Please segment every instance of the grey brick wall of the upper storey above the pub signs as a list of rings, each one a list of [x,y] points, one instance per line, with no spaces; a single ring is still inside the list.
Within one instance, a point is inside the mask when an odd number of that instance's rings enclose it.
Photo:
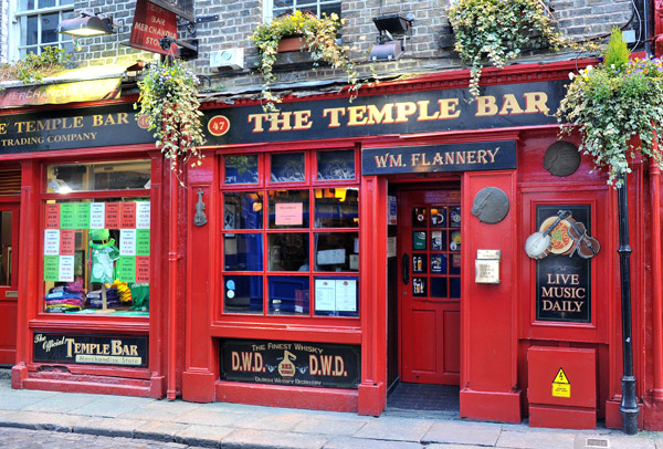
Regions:
[[[0,9],[0,32],[2,44],[0,56],[7,54],[7,30],[11,20],[7,17],[7,3],[2,0]],[[369,76],[427,73],[464,67],[455,53],[442,50],[439,45],[440,31],[448,23],[446,7],[449,0],[400,1],[382,0],[347,0],[343,2],[343,17],[346,24],[343,29],[343,42],[351,46],[351,59],[360,73]],[[124,27],[119,34],[81,39],[81,52],[74,54],[78,65],[105,65],[133,60],[151,60],[147,52],[122,44],[128,42],[135,0],[78,0],[76,11],[93,10],[114,14]],[[588,35],[601,35],[610,32],[613,25],[625,24],[632,15],[630,0],[554,0],[550,2],[554,17],[560,29],[572,39]],[[228,92],[246,92],[260,90],[261,79],[253,73],[257,52],[249,40],[252,30],[262,21],[263,0],[197,0],[196,17],[218,14],[219,21],[199,23],[196,39],[200,41],[199,59],[191,62],[196,72],[208,75],[215,90]],[[368,63],[368,54],[378,34],[372,18],[382,14],[411,12],[414,15],[412,35],[407,41],[404,56],[398,62]],[[192,38],[188,32],[180,32],[180,39]],[[118,44],[119,42],[119,44]],[[245,70],[217,70],[209,67],[210,52],[225,49],[243,48],[245,50]],[[532,61],[550,59],[547,52],[524,55]],[[559,58],[571,58],[559,56]],[[277,67],[280,82],[284,85],[297,86],[311,81],[339,81],[343,72],[319,67],[316,71],[303,70],[302,66]]]

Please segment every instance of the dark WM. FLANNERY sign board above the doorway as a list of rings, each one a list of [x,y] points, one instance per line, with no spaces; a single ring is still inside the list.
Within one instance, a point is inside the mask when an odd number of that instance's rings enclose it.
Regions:
[[[514,168],[516,168],[514,140],[366,148],[361,152],[362,175]]]

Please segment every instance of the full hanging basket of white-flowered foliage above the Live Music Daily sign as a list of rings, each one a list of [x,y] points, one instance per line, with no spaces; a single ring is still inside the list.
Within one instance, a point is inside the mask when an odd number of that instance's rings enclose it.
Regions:
[[[582,134],[579,150],[589,154],[596,167],[608,169],[609,185],[621,187],[631,171],[628,157],[636,153],[653,157],[663,168],[655,145],[655,128],[663,123],[663,62],[629,59],[621,31],[612,31],[602,63],[588,65],[572,80],[557,111],[562,133],[575,127]]]

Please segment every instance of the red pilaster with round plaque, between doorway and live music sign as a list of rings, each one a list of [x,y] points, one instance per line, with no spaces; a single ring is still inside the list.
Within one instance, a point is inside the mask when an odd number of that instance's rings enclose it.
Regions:
[[[520,274],[513,261],[525,254],[513,237],[518,234],[516,179],[515,171],[465,173],[463,177],[462,210],[471,210],[475,195],[488,186],[502,189],[509,199],[509,211],[498,223],[483,223],[471,213],[464,217],[464,229],[472,236],[463,242],[462,254],[461,417],[465,418],[520,421],[515,340],[518,296],[514,289]],[[501,250],[499,284],[475,283],[467,275],[474,273],[480,249]]]

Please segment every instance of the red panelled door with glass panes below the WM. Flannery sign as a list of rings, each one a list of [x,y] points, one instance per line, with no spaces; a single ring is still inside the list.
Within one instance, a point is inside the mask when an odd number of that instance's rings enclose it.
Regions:
[[[460,190],[399,194],[401,380],[460,384]]]

